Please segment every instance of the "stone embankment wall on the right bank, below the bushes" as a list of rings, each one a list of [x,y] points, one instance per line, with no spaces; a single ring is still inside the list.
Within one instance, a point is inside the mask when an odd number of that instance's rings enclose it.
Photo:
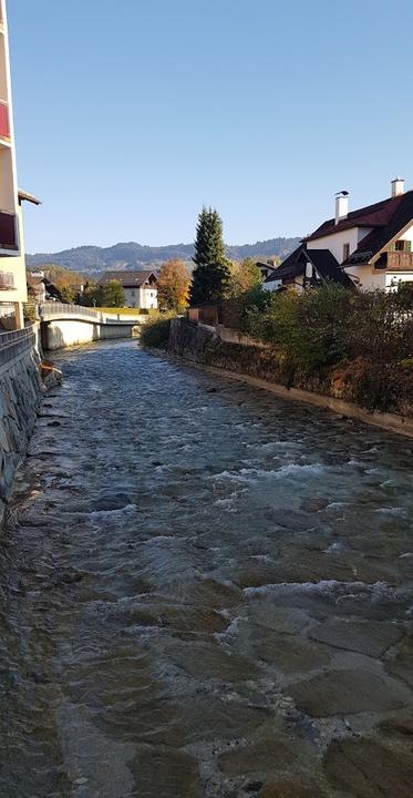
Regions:
[[[223,335],[219,327],[195,325],[185,318],[173,319],[168,352],[211,370],[225,370],[229,377],[270,390],[287,400],[317,405],[413,438],[413,418],[364,410],[345,398],[340,379],[296,377],[295,383],[288,385],[288,375],[281,372],[271,348],[244,338],[235,330],[226,330]]]

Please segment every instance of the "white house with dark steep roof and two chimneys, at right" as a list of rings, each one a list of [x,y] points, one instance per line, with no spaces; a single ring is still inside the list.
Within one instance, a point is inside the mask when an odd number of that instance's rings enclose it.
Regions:
[[[333,218],[323,222],[269,275],[265,287],[278,290],[334,280],[361,290],[392,290],[413,280],[413,191],[396,177],[391,196],[349,212],[349,194],[335,197]]]

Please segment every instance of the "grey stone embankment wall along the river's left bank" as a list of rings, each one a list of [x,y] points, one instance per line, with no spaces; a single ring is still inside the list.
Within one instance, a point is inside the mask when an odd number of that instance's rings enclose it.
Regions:
[[[43,383],[38,329],[0,341],[0,519],[10,498],[16,469],[25,456]]]

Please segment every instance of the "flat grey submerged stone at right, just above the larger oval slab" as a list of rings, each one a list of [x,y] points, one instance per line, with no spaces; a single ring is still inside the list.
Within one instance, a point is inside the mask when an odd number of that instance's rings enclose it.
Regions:
[[[371,657],[380,657],[403,636],[396,624],[380,621],[345,621],[335,618],[313,626],[310,636],[322,643]]]

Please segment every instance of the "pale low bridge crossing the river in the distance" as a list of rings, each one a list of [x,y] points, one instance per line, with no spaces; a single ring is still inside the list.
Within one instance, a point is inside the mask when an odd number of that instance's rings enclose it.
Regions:
[[[132,338],[134,329],[146,320],[137,313],[95,310],[83,305],[44,303],[39,306],[41,341],[44,351],[111,338]]]

